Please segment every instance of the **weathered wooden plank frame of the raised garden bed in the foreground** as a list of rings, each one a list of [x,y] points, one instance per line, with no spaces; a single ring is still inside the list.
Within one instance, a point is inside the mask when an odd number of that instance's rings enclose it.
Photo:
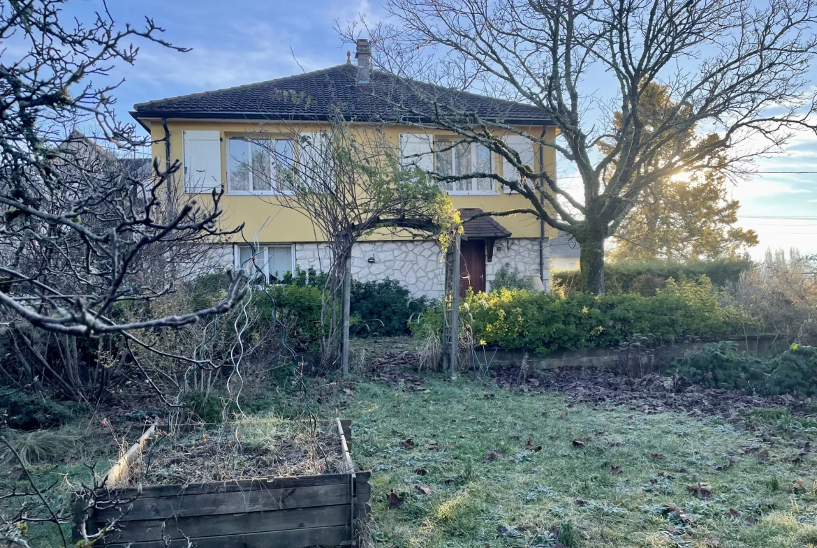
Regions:
[[[151,427],[109,471],[109,490],[87,531],[118,520],[118,531],[95,545],[109,548],[186,547],[188,541],[198,548],[356,546],[371,488],[369,472],[355,471],[351,460],[350,424],[337,419],[346,473],[116,488],[154,434]]]

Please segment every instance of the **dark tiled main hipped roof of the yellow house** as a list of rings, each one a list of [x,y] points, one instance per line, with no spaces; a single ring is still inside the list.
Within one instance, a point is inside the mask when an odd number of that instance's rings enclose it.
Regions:
[[[487,121],[550,123],[542,110],[429,83],[408,81],[372,71],[371,83],[357,83],[356,65],[337,65],[216,91],[152,100],[134,105],[134,118],[237,118],[326,120],[337,113],[346,120],[431,122],[431,105],[474,113]],[[411,115],[407,115],[411,113]]]

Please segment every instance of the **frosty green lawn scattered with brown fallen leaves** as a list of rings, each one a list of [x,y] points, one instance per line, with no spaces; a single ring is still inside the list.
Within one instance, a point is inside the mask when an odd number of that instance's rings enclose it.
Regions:
[[[813,457],[794,443],[809,431],[767,443],[721,417],[465,379],[350,386],[325,412],[355,421],[382,546],[817,546]]]

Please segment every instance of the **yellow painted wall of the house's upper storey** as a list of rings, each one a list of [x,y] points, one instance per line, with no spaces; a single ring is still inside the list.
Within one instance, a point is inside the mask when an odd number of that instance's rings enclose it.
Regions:
[[[150,135],[153,140],[152,154],[164,165],[166,161],[165,129],[160,119],[141,118],[140,122],[145,127],[150,128]],[[170,158],[171,162],[181,163],[183,148],[183,131],[220,131],[221,134],[221,182],[227,188],[228,154],[227,143],[230,136],[247,135],[252,133],[276,133],[275,124],[264,123],[263,126],[255,122],[236,122],[234,120],[193,120],[193,119],[172,119],[167,118],[167,131],[170,134]],[[293,124],[281,124],[279,132],[291,134]],[[319,123],[297,123],[297,131],[321,131],[326,127],[321,127]],[[372,127],[371,124],[368,124]],[[542,127],[520,127],[530,135],[541,135]],[[404,133],[433,133],[435,138],[450,136],[454,139],[454,134],[446,134],[444,131],[420,130],[417,127],[390,125],[382,128],[386,138],[399,146],[400,134]],[[545,136],[547,140],[555,140],[556,128],[547,127]],[[542,147],[544,165],[551,176],[556,176],[556,157],[551,147]],[[540,153],[534,149],[534,158],[538,168]],[[502,161],[498,155],[493,158],[493,165],[497,172],[502,175]],[[177,177],[178,185],[182,186],[181,176]],[[497,184],[497,186],[499,186]],[[190,195],[189,195],[190,196]],[[199,199],[210,200],[208,194],[199,194]],[[506,194],[502,189],[498,189],[491,195],[453,195],[454,207],[472,208],[477,207],[485,212],[502,212],[511,209],[530,207],[527,198],[519,194]],[[257,232],[257,241],[262,243],[301,243],[320,241],[319,234],[315,234],[315,228],[306,216],[291,208],[284,207],[275,195],[233,195],[228,191],[222,198],[221,206],[224,210],[221,216],[221,228],[230,229],[241,223],[244,224],[243,234],[234,236],[235,242],[247,239],[252,241],[253,235]],[[512,216],[499,216],[496,220],[511,231],[511,238],[539,238],[540,223],[534,216],[526,214],[516,214]],[[546,227],[545,236],[556,238],[557,231],[550,226]],[[400,238],[399,235],[382,234],[377,239]]]

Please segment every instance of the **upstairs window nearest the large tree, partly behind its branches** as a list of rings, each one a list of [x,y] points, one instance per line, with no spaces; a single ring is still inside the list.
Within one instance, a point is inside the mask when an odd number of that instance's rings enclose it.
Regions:
[[[436,140],[435,171],[444,176],[492,172],[491,151],[477,143]],[[441,180],[440,187],[451,194],[495,194],[496,185],[489,177]]]

